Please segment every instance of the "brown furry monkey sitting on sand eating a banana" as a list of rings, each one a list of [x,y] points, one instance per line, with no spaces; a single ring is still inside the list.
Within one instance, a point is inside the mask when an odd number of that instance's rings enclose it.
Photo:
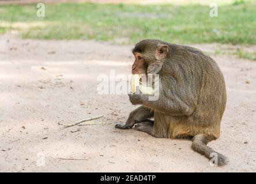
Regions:
[[[159,74],[159,99],[129,94],[131,104],[142,106],[116,128],[132,128],[137,123],[135,129],[155,137],[193,137],[195,151],[209,159],[211,153],[217,154],[219,166],[227,163],[225,156],[206,145],[220,136],[227,101],[224,77],[216,62],[199,49],[160,40],[140,41],[133,54],[133,74]],[[145,120],[151,117],[153,123]]]

